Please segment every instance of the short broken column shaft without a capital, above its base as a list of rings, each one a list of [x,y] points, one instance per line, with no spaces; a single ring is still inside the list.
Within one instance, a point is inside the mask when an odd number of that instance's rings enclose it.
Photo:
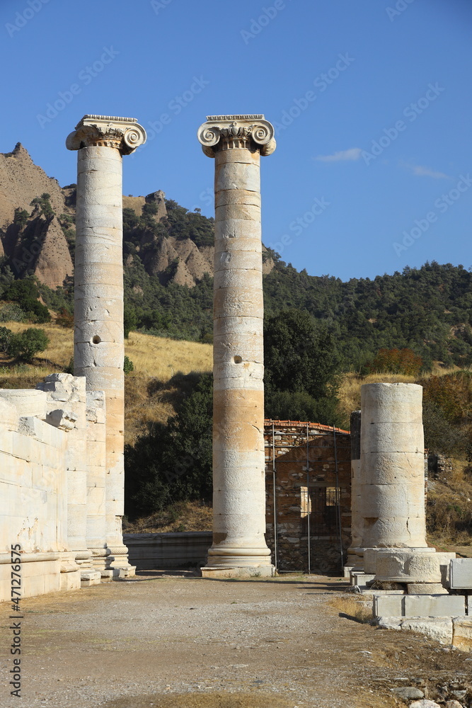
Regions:
[[[361,389],[362,547],[426,548],[422,387]]]

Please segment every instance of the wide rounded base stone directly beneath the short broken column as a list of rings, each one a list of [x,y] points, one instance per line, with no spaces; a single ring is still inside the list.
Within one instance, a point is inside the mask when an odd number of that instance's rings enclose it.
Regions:
[[[435,553],[391,550],[377,554],[376,580],[411,583],[441,583],[439,558]]]

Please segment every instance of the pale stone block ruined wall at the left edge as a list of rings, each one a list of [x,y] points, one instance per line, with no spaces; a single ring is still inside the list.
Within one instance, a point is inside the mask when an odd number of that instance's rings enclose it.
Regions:
[[[36,390],[0,389],[0,420],[0,600],[11,598],[12,544],[21,544],[22,597],[107,579],[93,568],[106,554],[96,537],[103,392],[86,395],[83,377],[52,374]]]

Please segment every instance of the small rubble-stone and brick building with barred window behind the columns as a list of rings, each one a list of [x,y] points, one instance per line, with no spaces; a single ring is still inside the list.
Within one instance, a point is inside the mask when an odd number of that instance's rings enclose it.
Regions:
[[[351,537],[350,434],[338,428],[333,433],[333,428],[316,423],[307,427],[265,421],[265,463],[266,539],[272,562],[279,571],[340,573],[340,547],[345,554]]]

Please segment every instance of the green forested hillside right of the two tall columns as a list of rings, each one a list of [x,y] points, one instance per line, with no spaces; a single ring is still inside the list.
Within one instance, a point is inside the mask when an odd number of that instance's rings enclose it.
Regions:
[[[351,368],[380,348],[410,348],[426,364],[472,363],[472,273],[462,265],[433,261],[343,282],[278,261],[265,276],[265,302],[267,314],[297,307],[324,321]]]

